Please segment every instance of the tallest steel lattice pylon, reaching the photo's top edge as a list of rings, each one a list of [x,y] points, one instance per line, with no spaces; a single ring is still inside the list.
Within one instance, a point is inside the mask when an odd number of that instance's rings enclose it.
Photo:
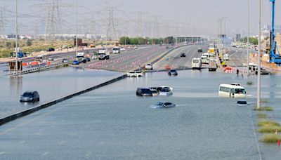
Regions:
[[[53,0],[50,6],[48,8],[47,39],[54,40],[55,34],[58,34],[61,29],[59,0]]]

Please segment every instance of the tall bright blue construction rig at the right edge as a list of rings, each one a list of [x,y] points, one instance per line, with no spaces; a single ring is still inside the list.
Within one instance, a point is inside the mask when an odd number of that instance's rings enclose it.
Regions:
[[[271,24],[271,31],[270,31],[270,51],[269,51],[269,58],[270,62],[274,62],[275,64],[281,64],[281,57],[278,47],[275,41],[275,0],[269,0],[272,3],[272,24]],[[276,54],[277,51],[277,54]]]

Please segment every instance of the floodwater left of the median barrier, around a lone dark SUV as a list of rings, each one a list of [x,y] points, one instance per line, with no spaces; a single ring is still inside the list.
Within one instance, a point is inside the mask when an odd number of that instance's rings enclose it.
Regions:
[[[18,77],[0,76],[0,117],[63,98],[122,75],[95,69],[66,67]],[[38,91],[40,102],[20,102],[25,91]]]

